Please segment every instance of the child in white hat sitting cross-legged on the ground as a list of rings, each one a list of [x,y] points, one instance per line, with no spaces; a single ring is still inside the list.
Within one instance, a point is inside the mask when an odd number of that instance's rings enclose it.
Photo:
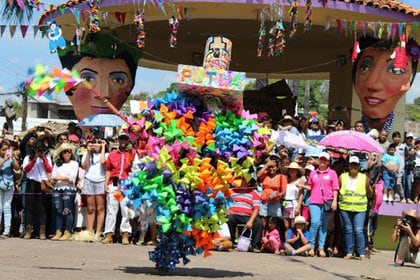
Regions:
[[[284,248],[288,255],[305,255],[311,250],[309,244],[310,233],[306,229],[306,222],[303,216],[297,216],[294,221],[294,227],[287,231],[286,243]]]

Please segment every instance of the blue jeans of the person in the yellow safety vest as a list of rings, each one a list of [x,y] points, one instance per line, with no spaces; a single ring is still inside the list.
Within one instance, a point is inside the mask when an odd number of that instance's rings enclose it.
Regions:
[[[344,228],[344,239],[346,244],[346,253],[353,254],[354,242],[357,244],[359,255],[366,255],[365,235],[363,226],[366,219],[366,212],[353,212],[340,210],[341,224]]]

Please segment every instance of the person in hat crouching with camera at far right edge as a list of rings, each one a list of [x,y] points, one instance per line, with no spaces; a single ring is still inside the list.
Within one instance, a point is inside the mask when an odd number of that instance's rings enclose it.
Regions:
[[[402,218],[397,220],[392,233],[392,242],[398,242],[394,263],[403,266],[404,263],[414,263],[420,267],[420,217],[416,210],[402,212]]]

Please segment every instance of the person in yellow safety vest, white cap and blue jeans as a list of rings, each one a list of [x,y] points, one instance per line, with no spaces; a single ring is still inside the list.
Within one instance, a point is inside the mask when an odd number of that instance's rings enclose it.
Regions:
[[[366,219],[368,196],[371,189],[368,177],[360,172],[357,156],[349,159],[349,171],[340,175],[339,209],[344,226],[345,259],[354,258],[355,243],[360,259],[366,258],[363,226]]]

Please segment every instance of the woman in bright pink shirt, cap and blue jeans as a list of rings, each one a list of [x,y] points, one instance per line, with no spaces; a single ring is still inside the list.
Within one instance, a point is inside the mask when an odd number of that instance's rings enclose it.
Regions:
[[[318,253],[320,257],[325,257],[324,250],[325,239],[327,237],[328,219],[331,211],[337,209],[337,194],[339,190],[337,173],[330,169],[330,155],[322,152],[319,155],[319,166],[311,172],[308,178],[308,187],[311,189],[309,211],[311,213],[311,226],[309,232],[311,239],[309,241],[311,250],[309,256],[315,255],[315,240],[319,229]],[[331,202],[331,211],[324,209],[324,202]]]

